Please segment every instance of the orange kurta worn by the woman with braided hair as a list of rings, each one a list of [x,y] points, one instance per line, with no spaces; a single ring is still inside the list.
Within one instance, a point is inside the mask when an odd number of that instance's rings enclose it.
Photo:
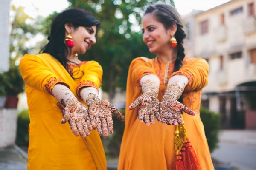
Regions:
[[[182,94],[183,104],[195,111],[196,115],[183,113],[187,136],[197,152],[200,170],[214,170],[199,113],[202,88],[208,83],[209,66],[201,58],[185,57],[183,61],[183,66],[174,73],[174,62],[169,62],[168,79],[174,75],[188,77],[189,84]],[[154,125],[146,126],[137,118],[138,108],[128,111],[128,106],[141,95],[140,79],[147,74],[159,77],[161,101],[167,88],[167,83],[164,84],[166,65],[167,62],[162,62],[157,57],[138,57],[131,62],[126,87],[125,130],[118,170],[172,170],[174,167],[175,126],[163,125],[158,121]]]

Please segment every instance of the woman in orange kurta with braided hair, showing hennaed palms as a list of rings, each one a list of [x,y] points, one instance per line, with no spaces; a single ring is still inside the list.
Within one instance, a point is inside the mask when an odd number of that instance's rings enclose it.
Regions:
[[[118,170],[177,170],[174,141],[180,125],[186,127],[197,153],[197,169],[213,170],[199,113],[209,66],[204,59],[185,56],[182,43],[186,34],[172,6],[149,6],[142,26],[143,41],[157,57],[138,57],[131,62]]]

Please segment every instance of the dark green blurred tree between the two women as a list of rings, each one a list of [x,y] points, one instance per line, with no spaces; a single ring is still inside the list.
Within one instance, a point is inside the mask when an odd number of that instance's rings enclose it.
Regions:
[[[102,65],[102,89],[110,100],[116,87],[126,88],[128,67],[135,57],[154,57],[142,41],[141,14],[145,6],[159,0],[68,0],[70,8],[84,8],[102,22],[97,43],[81,59],[96,60]],[[166,3],[173,3],[166,0]]]

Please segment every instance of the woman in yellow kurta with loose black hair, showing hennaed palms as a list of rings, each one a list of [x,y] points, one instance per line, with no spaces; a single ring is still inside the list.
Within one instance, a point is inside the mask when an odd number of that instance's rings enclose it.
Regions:
[[[99,134],[113,133],[111,112],[124,117],[98,97],[99,63],[76,56],[96,43],[99,24],[82,9],[64,11],[53,20],[43,53],[20,61],[30,118],[28,170],[107,169]]]

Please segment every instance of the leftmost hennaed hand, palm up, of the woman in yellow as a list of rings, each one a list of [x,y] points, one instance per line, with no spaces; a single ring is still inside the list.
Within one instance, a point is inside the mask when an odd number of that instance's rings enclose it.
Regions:
[[[65,103],[61,124],[69,122],[74,135],[79,136],[80,134],[82,138],[85,138],[90,134],[89,131],[93,130],[86,106],[76,98],[69,98]]]

